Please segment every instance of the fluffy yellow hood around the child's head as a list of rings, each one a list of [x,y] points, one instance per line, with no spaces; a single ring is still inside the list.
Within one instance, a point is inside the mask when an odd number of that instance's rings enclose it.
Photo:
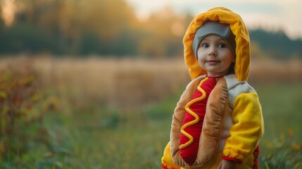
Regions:
[[[191,21],[187,32],[184,35],[184,60],[189,68],[191,79],[198,77],[199,75],[206,75],[206,71],[203,70],[194,56],[192,48],[194,36],[206,20],[220,21],[220,23],[229,24],[236,41],[236,64],[235,75],[239,81],[247,80],[251,61],[250,52],[250,39],[248,30],[244,21],[237,13],[233,13],[227,8],[211,8],[205,13],[197,15],[194,20]]]

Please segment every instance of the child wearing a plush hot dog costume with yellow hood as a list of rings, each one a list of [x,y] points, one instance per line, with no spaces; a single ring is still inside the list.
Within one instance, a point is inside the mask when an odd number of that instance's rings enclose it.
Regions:
[[[177,103],[163,168],[258,168],[263,116],[250,68],[248,30],[227,8],[197,15],[184,35],[192,81]]]

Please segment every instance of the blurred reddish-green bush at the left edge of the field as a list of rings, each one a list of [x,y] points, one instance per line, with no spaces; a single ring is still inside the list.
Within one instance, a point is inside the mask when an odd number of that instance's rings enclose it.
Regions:
[[[35,81],[30,68],[1,69],[0,168],[31,168],[22,161],[34,161],[36,168],[61,168],[58,158],[69,154],[68,144],[61,146],[58,134],[47,129],[48,120],[44,124],[45,113],[60,108],[58,99],[51,96],[41,103]]]

